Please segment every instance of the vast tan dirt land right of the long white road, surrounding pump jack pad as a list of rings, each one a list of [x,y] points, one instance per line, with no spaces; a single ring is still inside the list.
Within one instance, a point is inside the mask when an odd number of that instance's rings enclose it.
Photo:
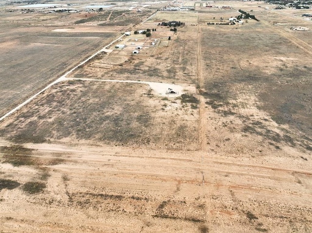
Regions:
[[[311,32],[289,30],[312,21],[263,2],[199,6],[158,11],[134,28],[150,38],[122,37],[68,76],[84,80],[0,122],[2,232],[312,232]],[[260,21],[207,25],[238,9]],[[158,26],[169,20],[185,25]],[[81,30],[105,34],[97,23]]]

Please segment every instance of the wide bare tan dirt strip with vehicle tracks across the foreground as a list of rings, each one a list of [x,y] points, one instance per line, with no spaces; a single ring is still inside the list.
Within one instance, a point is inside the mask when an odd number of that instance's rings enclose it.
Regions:
[[[304,161],[83,144],[26,147],[35,149],[31,156],[38,164],[63,160],[46,166],[43,193],[1,191],[4,232],[238,233],[296,227],[307,232],[311,227],[312,174],[311,166],[300,169]],[[0,171],[14,174],[21,185],[43,172],[7,163]]]

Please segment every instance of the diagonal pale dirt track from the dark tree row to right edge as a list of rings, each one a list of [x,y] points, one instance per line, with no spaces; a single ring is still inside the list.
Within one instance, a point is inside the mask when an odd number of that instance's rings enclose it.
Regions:
[[[279,29],[275,26],[273,26],[272,24],[270,24],[267,21],[264,20],[260,20],[260,22],[262,24],[264,24],[265,26],[267,26],[268,28],[270,28],[272,31],[274,31],[275,33],[279,34],[280,36],[285,37],[286,39],[288,39],[289,41],[291,41],[293,44],[295,44],[296,46],[298,46],[300,49],[302,49],[303,51],[307,52],[308,54],[312,55],[312,46],[309,45],[308,43],[304,42],[303,40],[297,38],[296,36],[291,35],[288,32],[285,32],[282,29]]]

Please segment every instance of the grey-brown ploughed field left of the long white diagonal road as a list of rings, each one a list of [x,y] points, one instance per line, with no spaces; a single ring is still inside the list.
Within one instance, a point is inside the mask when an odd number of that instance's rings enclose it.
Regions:
[[[0,116],[118,36],[117,32],[57,32],[55,26],[36,26],[32,21],[25,25],[12,18],[0,18]]]

